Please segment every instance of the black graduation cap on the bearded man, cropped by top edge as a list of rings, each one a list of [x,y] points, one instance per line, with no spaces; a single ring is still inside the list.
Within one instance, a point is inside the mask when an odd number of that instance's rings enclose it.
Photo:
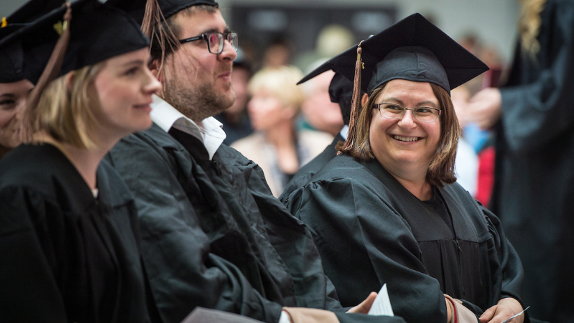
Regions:
[[[214,0],[109,0],[108,3],[129,13],[131,17],[136,19],[138,24],[141,24],[145,14],[145,6],[148,1],[157,2],[157,6],[161,9],[161,13],[165,19],[191,6],[199,6],[202,4],[218,6],[218,3]]]

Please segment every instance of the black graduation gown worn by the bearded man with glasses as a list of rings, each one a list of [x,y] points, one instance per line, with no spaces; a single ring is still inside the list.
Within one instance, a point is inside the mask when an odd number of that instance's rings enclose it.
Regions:
[[[193,157],[154,124],[108,155],[136,198],[161,319],[179,323],[196,306],[273,323],[282,306],[340,309],[310,231],[273,197],[257,164],[226,145],[213,161],[200,142],[186,145]]]

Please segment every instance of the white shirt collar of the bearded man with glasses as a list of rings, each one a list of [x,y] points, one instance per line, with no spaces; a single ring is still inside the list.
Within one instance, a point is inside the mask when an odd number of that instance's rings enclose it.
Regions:
[[[225,139],[226,135],[222,129],[223,124],[214,117],[205,118],[198,125],[157,95],[153,95],[151,107],[152,112],[150,115],[154,123],[159,125],[161,129],[164,129],[165,132],[169,132],[169,129],[174,127],[196,137],[205,146],[209,159],[213,158]]]

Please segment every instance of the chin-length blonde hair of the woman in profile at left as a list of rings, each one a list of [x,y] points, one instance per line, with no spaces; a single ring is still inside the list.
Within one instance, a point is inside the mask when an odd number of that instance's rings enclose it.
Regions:
[[[90,87],[104,62],[74,70],[70,84],[70,73],[51,81],[40,95],[34,108],[35,118],[31,125],[24,125],[24,131],[31,132],[31,141],[38,141],[38,133],[48,134],[59,143],[68,143],[77,148],[93,149],[99,145],[95,136],[97,118],[95,109],[100,109],[90,100]],[[38,125],[34,129],[33,125]]]

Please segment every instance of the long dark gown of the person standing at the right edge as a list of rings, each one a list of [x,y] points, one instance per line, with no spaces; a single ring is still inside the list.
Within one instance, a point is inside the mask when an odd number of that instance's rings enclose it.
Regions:
[[[574,1],[548,0],[536,62],[501,89],[491,210],[525,268],[532,317],[574,322]]]

